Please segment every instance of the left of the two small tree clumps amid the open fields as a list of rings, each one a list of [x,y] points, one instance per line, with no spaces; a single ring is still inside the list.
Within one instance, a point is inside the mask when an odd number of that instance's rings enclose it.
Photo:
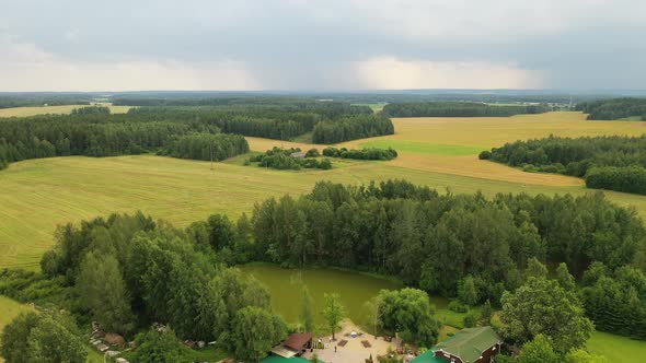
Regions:
[[[300,171],[301,168],[320,168],[331,169],[332,163],[327,159],[316,160],[319,151],[312,149],[305,153],[305,157],[293,157],[293,153],[300,153],[299,148],[282,149],[274,147],[263,154],[253,155],[249,159],[250,163],[258,163],[259,167],[270,167],[279,171]]]

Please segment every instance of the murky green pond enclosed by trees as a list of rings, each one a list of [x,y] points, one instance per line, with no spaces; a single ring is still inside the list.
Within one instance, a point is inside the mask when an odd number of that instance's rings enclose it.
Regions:
[[[239,267],[261,281],[272,295],[274,311],[289,321],[297,323],[301,312],[302,286],[307,285],[313,300],[316,324],[322,324],[323,294],[341,295],[347,317],[365,326],[364,305],[380,290],[396,290],[403,285],[387,279],[334,269],[284,269],[270,264],[250,264]]]

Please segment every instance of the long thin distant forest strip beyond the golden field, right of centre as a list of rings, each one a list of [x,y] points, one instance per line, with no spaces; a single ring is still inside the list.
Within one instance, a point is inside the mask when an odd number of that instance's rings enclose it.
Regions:
[[[545,105],[487,105],[473,102],[403,102],[388,104],[382,113],[390,117],[507,117],[542,114]]]

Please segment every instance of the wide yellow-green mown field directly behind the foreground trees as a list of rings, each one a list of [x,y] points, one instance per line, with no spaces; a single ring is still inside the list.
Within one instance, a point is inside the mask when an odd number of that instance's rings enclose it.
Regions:
[[[404,168],[383,162],[349,162],[332,171],[274,171],[216,163],[138,155],[30,160],[0,172],[0,267],[36,269],[54,244],[56,225],[111,212],[142,210],[178,226],[211,213],[232,218],[251,212],[256,201],[284,194],[308,192],[318,180],[345,184],[406,178],[439,190],[486,195],[497,192],[590,192],[581,186],[531,186]],[[646,197],[609,192],[646,215]]]

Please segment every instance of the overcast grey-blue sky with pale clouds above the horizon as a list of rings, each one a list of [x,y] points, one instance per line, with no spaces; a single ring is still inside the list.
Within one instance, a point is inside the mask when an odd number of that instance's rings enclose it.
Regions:
[[[0,0],[0,91],[646,89],[644,0]]]

